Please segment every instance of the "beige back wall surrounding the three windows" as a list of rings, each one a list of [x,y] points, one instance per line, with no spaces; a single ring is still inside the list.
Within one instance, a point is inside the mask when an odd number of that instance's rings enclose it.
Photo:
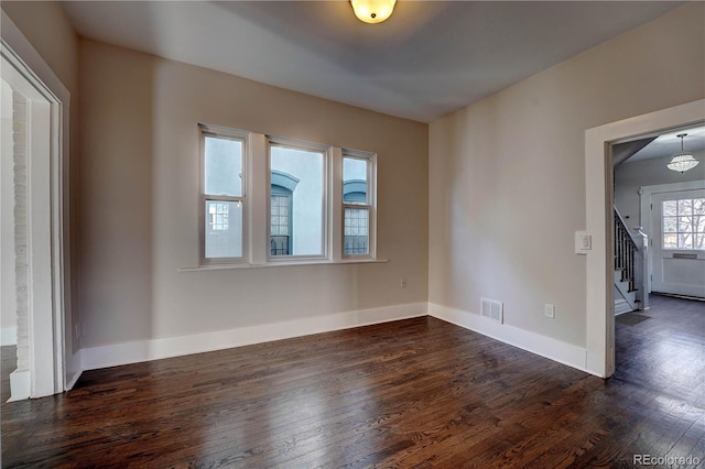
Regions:
[[[426,124],[91,41],[79,51],[83,347],[426,301]],[[377,152],[389,262],[177,272],[198,263],[198,122]]]

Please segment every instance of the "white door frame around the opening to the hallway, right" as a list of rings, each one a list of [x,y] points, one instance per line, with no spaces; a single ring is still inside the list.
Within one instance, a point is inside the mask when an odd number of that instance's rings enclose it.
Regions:
[[[585,131],[586,230],[593,237],[586,274],[586,369],[615,372],[611,144],[705,121],[705,99]]]

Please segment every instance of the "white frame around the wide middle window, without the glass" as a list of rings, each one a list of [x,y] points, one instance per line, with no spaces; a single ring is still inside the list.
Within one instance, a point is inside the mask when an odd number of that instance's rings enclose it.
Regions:
[[[330,240],[330,230],[328,229],[328,217],[330,216],[329,210],[327,209],[327,207],[329,206],[328,204],[328,198],[329,198],[329,193],[330,193],[330,160],[333,157],[333,153],[332,153],[332,148],[330,145],[325,145],[325,144],[319,144],[319,143],[311,143],[311,142],[302,142],[299,140],[293,140],[293,139],[285,139],[285,138],[281,138],[281,137],[271,137],[268,135],[268,140],[267,140],[267,227],[265,227],[265,231],[267,231],[267,246],[269,247],[269,239],[271,236],[271,196],[272,196],[272,179],[271,179],[271,174],[272,174],[272,153],[271,153],[271,149],[273,146],[280,146],[280,148],[286,148],[286,149],[292,149],[292,150],[301,150],[301,151],[308,151],[308,152],[314,152],[314,153],[321,153],[323,154],[323,171],[322,171],[322,200],[321,200],[321,254],[313,254],[313,255],[293,255],[293,254],[289,254],[289,255],[271,255],[271,251],[268,248],[267,249],[267,262],[268,263],[299,263],[299,262],[306,262],[306,261],[322,261],[322,260],[327,260],[329,259],[329,240]],[[293,197],[293,195],[292,195]],[[293,210],[291,216],[293,217]],[[291,236],[293,237],[293,232],[291,233]]]

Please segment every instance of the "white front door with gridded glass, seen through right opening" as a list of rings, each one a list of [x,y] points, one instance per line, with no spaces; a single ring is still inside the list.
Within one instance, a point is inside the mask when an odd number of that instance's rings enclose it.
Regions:
[[[651,197],[651,290],[705,297],[705,190]]]

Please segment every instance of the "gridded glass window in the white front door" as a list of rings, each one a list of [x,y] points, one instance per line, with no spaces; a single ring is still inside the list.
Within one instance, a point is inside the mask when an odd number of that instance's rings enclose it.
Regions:
[[[705,198],[662,204],[663,249],[705,250]]]

